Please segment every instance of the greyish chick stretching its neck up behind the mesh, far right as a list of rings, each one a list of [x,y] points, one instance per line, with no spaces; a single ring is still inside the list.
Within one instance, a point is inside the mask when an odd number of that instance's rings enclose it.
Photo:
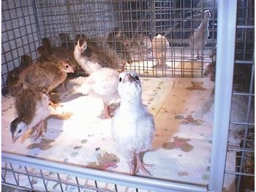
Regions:
[[[190,45],[192,48],[194,48],[197,51],[197,58],[199,57],[199,51],[203,50],[203,47],[207,43],[207,39],[209,36],[209,18],[211,18],[211,13],[209,10],[206,10],[203,12],[203,20],[200,23],[200,26],[198,26],[191,37]]]

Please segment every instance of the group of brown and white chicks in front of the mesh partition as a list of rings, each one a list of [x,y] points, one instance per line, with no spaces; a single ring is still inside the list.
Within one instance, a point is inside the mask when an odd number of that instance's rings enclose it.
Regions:
[[[108,34],[107,39],[118,37],[116,29]],[[15,97],[15,110],[18,118],[12,120],[10,132],[12,142],[22,137],[26,131],[33,128],[38,139],[46,131],[47,119],[50,116],[50,106],[56,107],[50,101],[50,93],[62,85],[66,88],[68,74],[82,68],[89,74],[86,82],[79,90],[86,95],[96,96],[103,100],[105,117],[110,118],[109,104],[118,100],[119,107],[112,117],[112,136],[129,165],[130,173],[136,174],[142,170],[149,174],[146,164],[140,159],[140,153],[151,149],[155,131],[154,117],[148,112],[141,99],[142,88],[137,72],[116,70],[122,55],[129,55],[114,50],[113,43],[108,42],[108,49],[102,49],[86,36],[79,35],[75,39],[74,50],[64,47],[53,47],[48,38],[42,39],[38,47],[39,58],[34,63],[24,55],[18,68],[10,72],[7,80],[9,93]],[[119,42],[120,43],[120,42]],[[123,49],[125,50],[125,42]],[[118,55],[116,61],[109,54]],[[128,57],[125,63],[132,62]],[[121,63],[121,66],[124,64]]]

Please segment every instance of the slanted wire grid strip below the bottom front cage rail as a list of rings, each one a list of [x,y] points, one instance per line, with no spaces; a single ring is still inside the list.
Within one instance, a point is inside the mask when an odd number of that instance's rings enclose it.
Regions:
[[[4,164],[4,165],[3,165]],[[36,191],[117,191],[117,186],[30,166],[2,164],[2,184]],[[8,180],[6,180],[8,178]]]

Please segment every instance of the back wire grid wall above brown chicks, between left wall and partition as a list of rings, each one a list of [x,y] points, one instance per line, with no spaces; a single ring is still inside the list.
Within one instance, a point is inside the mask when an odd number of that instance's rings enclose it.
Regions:
[[[89,37],[102,37],[113,28],[113,12],[108,1],[37,1],[39,33],[58,37],[67,33],[71,39],[86,32]],[[103,33],[103,34],[102,34]]]

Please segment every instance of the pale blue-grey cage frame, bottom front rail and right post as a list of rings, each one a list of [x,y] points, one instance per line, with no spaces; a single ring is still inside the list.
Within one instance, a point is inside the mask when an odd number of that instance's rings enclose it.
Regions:
[[[175,181],[156,180],[113,172],[103,172],[94,169],[80,169],[80,167],[68,164],[48,162],[42,159],[5,152],[1,153],[2,161],[7,161],[11,164],[21,164],[22,166],[34,166],[37,169],[42,170],[54,170],[55,172],[64,174],[72,173],[75,177],[82,176],[91,180],[97,179],[102,182],[113,183],[115,185],[120,184],[154,191],[222,191],[225,176],[225,160],[227,156],[227,137],[230,126],[231,97],[233,95],[233,64],[235,62],[243,63],[243,61],[235,61],[234,58],[236,28],[248,28],[248,26],[236,26],[236,10],[237,0],[219,1],[218,3],[218,51],[214,97],[214,133],[212,139],[211,169],[208,185],[192,185],[189,183],[176,183]],[[249,27],[254,28],[254,26]],[[220,34],[220,32],[222,32],[222,34]],[[228,57],[227,50],[231,50],[228,54],[230,56]],[[254,64],[254,61],[248,62],[250,64]],[[225,63],[225,65],[222,63]],[[254,96],[254,94],[249,96]],[[2,167],[2,171],[3,170],[6,171],[7,169]],[[3,182],[3,180],[2,184],[8,185],[8,183]],[[80,187],[80,185],[78,185],[78,187]],[[101,191],[97,186],[95,190]]]

